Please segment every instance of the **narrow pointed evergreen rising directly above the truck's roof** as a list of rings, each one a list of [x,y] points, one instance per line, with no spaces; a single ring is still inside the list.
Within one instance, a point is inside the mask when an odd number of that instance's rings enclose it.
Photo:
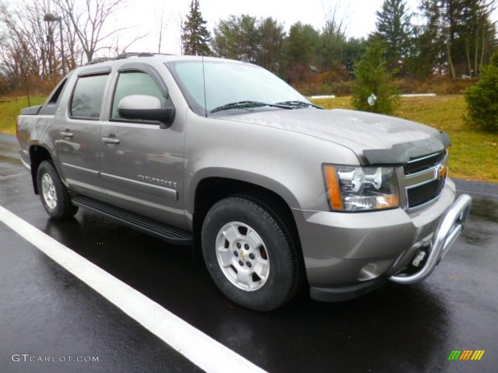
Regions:
[[[182,52],[194,56],[208,56],[211,54],[209,40],[210,34],[199,10],[199,0],[191,0],[190,13],[187,14],[182,27]]]

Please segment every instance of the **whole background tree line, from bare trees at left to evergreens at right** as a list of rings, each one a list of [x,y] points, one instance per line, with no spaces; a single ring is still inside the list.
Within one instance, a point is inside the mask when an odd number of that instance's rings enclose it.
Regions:
[[[412,13],[405,0],[384,0],[376,30],[350,38],[337,6],[325,12],[320,28],[296,22],[286,30],[278,19],[241,14],[220,19],[209,31],[200,1],[191,0],[180,40],[184,54],[248,61],[294,85],[317,74],[327,82],[354,80],[356,64],[373,43],[381,45],[387,72],[396,77],[479,77],[497,49],[496,2],[419,0]],[[14,8],[0,0],[0,93],[27,90],[34,82],[53,86],[65,68],[92,61],[103,49],[107,55],[126,50],[113,41],[125,27],[107,33],[103,27],[122,3],[26,0]],[[57,17],[44,19],[50,12]],[[158,52],[162,33],[161,26]]]

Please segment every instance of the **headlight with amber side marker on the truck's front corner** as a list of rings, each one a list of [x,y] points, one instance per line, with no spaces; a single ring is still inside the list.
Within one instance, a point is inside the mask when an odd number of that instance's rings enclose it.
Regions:
[[[399,207],[398,185],[392,167],[324,165],[323,176],[332,210]]]

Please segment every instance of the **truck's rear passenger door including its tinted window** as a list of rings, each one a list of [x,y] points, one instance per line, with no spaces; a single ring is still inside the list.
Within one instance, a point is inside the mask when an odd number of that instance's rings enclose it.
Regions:
[[[90,67],[76,77],[67,114],[58,122],[55,141],[62,174],[69,187],[99,199],[104,196],[99,178],[100,117],[111,68]]]

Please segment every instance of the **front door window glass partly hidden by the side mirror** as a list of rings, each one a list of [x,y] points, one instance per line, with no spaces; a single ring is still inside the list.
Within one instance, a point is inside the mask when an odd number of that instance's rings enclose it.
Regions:
[[[119,118],[118,105],[120,101],[132,94],[147,94],[159,98],[161,106],[164,107],[165,98],[154,80],[147,74],[133,71],[121,73],[114,93],[113,111],[111,118]]]

